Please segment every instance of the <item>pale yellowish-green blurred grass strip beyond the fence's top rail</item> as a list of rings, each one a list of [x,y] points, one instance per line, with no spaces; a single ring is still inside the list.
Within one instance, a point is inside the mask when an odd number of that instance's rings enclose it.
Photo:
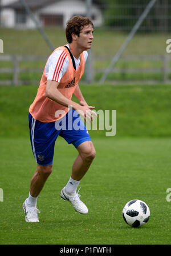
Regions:
[[[45,31],[54,47],[66,42],[64,29],[48,28]],[[38,30],[0,28],[0,34],[5,54],[48,55],[51,53]],[[128,33],[123,31],[95,28],[92,52],[96,55],[103,52],[105,55],[111,56],[117,52],[127,36]],[[165,54],[168,38],[170,38],[170,34],[166,33],[137,33],[124,54]]]

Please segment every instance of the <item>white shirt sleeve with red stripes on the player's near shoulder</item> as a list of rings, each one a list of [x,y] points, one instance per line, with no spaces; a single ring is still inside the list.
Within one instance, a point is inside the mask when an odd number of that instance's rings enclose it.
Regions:
[[[56,50],[48,58],[45,73],[47,80],[53,80],[60,82],[61,78],[64,76],[68,69],[68,56],[63,50]]]

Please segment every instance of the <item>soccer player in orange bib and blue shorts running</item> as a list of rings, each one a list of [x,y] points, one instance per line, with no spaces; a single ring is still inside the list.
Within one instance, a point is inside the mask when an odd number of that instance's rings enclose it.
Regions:
[[[68,200],[76,211],[88,213],[86,204],[80,200],[76,191],[96,153],[86,126],[79,116],[89,121],[92,121],[93,115],[97,116],[92,111],[95,107],[87,104],[78,84],[84,73],[87,49],[91,49],[92,45],[91,19],[80,15],[72,17],[67,22],[66,38],[68,44],[56,48],[48,57],[38,92],[29,108],[30,140],[37,169],[30,182],[28,198],[23,203],[26,222],[39,222],[40,211],[36,208],[36,202],[52,172],[54,146],[58,136],[62,136],[78,150],[70,179],[60,191],[60,197]],[[79,104],[72,101],[73,93]],[[80,129],[74,127],[75,120]],[[64,121],[67,125],[63,127]]]

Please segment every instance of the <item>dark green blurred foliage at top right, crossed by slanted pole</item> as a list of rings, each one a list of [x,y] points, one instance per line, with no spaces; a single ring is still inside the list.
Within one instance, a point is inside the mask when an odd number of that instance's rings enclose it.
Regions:
[[[104,10],[105,26],[120,30],[131,30],[137,19],[143,13],[150,0],[106,0]],[[171,14],[169,0],[158,0],[148,17],[141,25],[141,31],[168,31],[169,14]],[[171,24],[170,24],[171,25]]]

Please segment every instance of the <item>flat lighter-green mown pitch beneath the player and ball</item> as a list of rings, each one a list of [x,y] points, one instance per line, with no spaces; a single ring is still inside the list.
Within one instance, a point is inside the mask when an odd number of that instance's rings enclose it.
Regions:
[[[35,170],[30,141],[1,139],[1,244],[170,243],[166,188],[171,182],[171,139],[105,137],[93,142],[97,155],[80,183],[89,213],[81,215],[60,199],[60,189],[67,183],[77,152],[59,139],[54,170],[38,198],[40,223],[26,223],[22,203]],[[148,204],[150,219],[145,226],[133,229],[121,212],[125,203],[137,198]]]

